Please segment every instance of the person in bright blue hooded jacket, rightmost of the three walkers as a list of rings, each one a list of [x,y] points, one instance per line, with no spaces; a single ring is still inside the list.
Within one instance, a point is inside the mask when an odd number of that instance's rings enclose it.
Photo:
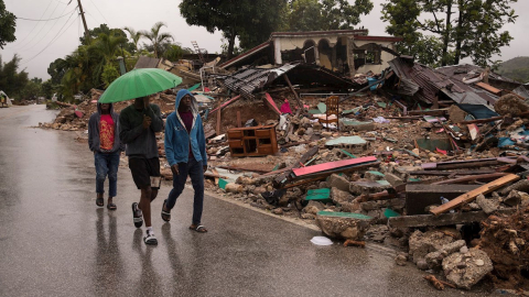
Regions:
[[[207,169],[206,138],[198,114],[198,105],[188,90],[176,95],[175,111],[165,122],[165,155],[173,172],[173,189],[163,201],[162,219],[171,220],[171,209],[182,194],[187,176],[195,190],[191,230],[204,233],[201,224],[204,206],[204,170]]]

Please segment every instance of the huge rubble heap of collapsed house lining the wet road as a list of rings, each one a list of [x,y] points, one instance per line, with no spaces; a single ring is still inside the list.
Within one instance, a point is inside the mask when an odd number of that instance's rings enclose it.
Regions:
[[[518,210],[529,206],[529,105],[483,82],[484,72],[401,56],[355,79],[303,64],[210,74],[194,91],[209,98],[206,189],[315,224],[344,246],[389,246],[398,265],[436,273],[427,278],[436,288],[493,279],[527,289]],[[501,79],[490,73],[514,84]],[[174,95],[153,103],[165,118]],[[43,127],[86,130],[95,107],[67,107]]]

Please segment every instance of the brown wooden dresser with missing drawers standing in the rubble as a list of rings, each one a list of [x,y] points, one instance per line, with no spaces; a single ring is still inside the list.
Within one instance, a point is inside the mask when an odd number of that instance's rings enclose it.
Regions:
[[[274,125],[256,125],[228,130],[231,156],[264,156],[278,152]]]

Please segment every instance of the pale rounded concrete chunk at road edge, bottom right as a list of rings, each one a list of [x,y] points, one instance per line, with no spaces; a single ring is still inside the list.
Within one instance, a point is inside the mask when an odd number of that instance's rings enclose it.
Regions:
[[[493,262],[484,251],[472,249],[465,254],[454,253],[445,257],[443,271],[446,279],[458,288],[471,289],[493,271]]]

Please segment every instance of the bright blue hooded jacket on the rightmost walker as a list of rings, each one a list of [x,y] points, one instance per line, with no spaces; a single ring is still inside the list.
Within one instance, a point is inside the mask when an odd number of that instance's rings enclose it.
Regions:
[[[179,114],[180,101],[186,95],[190,95],[192,98],[191,111],[193,113],[193,125],[190,132],[185,129],[184,121]],[[179,94],[176,94],[174,109],[175,111],[169,114],[165,121],[164,144],[169,165],[173,166],[177,163],[187,163],[192,154],[197,162],[202,161],[202,165],[206,166],[206,138],[204,136],[204,127],[202,124],[202,118],[198,114],[198,103],[195,97],[188,90],[180,90]]]

